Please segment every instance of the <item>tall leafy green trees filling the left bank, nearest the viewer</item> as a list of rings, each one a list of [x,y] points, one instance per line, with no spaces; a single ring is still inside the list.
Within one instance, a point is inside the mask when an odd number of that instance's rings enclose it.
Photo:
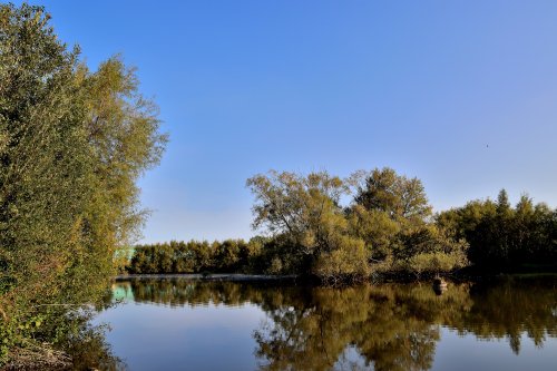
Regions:
[[[91,72],[41,7],[0,6],[0,365],[48,367],[75,338],[68,319],[141,224],[136,180],[160,158],[158,129],[119,57]]]

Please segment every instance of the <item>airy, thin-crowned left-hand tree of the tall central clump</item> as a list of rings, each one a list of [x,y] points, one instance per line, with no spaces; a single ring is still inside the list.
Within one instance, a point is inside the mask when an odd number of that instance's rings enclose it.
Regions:
[[[341,196],[349,192],[345,180],[326,172],[307,176],[271,172],[247,179],[247,186],[256,198],[254,227],[280,236],[285,255],[297,263],[284,264],[284,256],[274,256],[272,272],[297,265],[297,273],[326,281],[367,275],[363,241],[350,236],[340,206]]]

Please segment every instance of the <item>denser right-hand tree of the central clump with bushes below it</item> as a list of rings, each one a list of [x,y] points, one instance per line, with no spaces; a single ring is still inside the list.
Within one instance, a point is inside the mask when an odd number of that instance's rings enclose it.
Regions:
[[[439,273],[467,265],[468,244],[430,223],[419,179],[383,168],[355,173],[351,183],[356,188],[346,209],[351,233],[365,242],[377,272]]]

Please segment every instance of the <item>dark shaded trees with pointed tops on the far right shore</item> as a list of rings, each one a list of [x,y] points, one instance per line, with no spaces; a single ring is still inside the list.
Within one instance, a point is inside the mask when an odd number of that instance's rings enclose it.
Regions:
[[[469,258],[488,271],[557,265],[557,211],[522,195],[511,207],[502,189],[497,201],[473,201],[437,216],[437,224],[470,244]]]

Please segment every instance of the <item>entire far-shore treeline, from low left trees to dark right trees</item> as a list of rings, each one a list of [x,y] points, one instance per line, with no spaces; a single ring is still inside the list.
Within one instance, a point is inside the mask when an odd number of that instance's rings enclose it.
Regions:
[[[390,168],[346,179],[271,172],[247,186],[255,195],[254,227],[268,237],[137,246],[128,272],[304,274],[335,282],[557,265],[557,212],[527,196],[511,207],[501,191],[496,202],[433,215],[422,183]],[[346,194],[353,197],[343,206]]]

